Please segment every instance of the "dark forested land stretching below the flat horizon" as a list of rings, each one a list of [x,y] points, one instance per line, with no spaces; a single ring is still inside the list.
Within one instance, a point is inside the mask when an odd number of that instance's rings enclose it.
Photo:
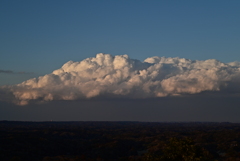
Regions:
[[[0,121],[2,161],[240,161],[240,124]]]

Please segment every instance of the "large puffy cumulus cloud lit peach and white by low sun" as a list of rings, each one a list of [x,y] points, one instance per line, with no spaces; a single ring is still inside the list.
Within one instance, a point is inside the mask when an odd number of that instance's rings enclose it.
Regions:
[[[77,100],[93,97],[149,98],[205,91],[240,92],[240,63],[215,59],[150,57],[141,62],[128,55],[97,54],[21,84],[1,87],[15,102]]]

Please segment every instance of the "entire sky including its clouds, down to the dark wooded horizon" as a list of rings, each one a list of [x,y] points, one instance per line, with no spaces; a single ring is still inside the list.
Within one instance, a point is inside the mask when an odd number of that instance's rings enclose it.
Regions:
[[[239,7],[1,0],[0,120],[239,122]]]

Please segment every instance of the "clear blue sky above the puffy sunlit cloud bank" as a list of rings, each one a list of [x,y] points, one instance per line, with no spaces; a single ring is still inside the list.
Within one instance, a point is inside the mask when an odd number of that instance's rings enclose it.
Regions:
[[[0,85],[97,53],[240,61],[239,0],[1,0]]]

